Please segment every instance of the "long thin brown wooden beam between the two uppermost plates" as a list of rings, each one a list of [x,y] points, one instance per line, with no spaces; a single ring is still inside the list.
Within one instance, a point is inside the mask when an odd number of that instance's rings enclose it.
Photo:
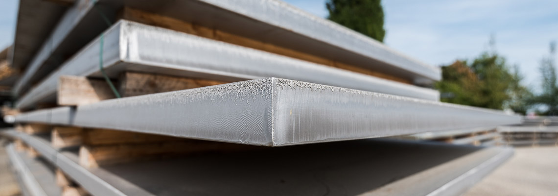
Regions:
[[[350,70],[357,73],[372,75],[378,78],[384,78],[388,80],[393,80],[396,82],[412,84],[412,81],[396,77],[394,75],[387,75],[383,73],[379,73],[377,71],[369,70],[366,68],[362,68],[360,66],[354,66],[349,64],[340,63],[338,61],[333,61],[321,56],[315,56],[306,54],[304,52],[287,49],[285,47],[280,47],[272,44],[268,44],[262,41],[256,41],[249,39],[247,37],[238,36],[234,34],[230,34],[228,32],[219,31],[214,28],[204,27],[200,25],[196,25],[195,23],[189,23],[181,20],[177,20],[176,18],[171,18],[167,16],[157,15],[155,13],[145,12],[138,9],[133,9],[129,7],[124,7],[119,14],[119,18],[145,23],[147,25],[153,25],[163,28],[169,28],[171,30],[185,32],[187,34],[197,35],[201,37],[205,37],[208,39],[218,40],[227,42],[229,44],[240,45],[244,47],[251,47],[257,50],[263,50],[271,53],[275,53],[278,55],[288,56],[291,58],[296,58],[300,60],[310,61],[312,63],[317,63],[325,66],[333,66],[340,69]]]

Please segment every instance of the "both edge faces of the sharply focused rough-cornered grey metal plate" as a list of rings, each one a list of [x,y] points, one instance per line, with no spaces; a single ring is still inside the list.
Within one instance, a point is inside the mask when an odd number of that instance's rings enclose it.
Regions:
[[[490,109],[278,78],[28,112],[16,122],[45,119],[38,112],[50,116],[46,123],[265,146],[521,122],[519,116]]]

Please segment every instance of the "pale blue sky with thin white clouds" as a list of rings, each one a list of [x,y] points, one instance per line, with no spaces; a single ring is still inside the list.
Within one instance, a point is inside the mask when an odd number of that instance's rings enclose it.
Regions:
[[[16,0],[0,0],[0,47],[13,41]],[[326,17],[325,0],[286,0]],[[524,83],[538,88],[538,65],[558,41],[555,0],[384,0],[385,44],[431,65],[474,58],[488,49],[491,34],[497,51],[518,64]]]

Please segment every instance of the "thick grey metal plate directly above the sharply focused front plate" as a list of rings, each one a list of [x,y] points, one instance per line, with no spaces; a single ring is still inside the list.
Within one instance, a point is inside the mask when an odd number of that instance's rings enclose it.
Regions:
[[[99,47],[99,39],[84,47],[16,106],[27,108],[39,101],[52,101],[46,98],[55,98],[60,75],[101,77]],[[439,92],[432,89],[128,21],[105,32],[103,51],[103,65],[111,77],[126,70],[229,82],[279,77],[435,101],[439,97]]]

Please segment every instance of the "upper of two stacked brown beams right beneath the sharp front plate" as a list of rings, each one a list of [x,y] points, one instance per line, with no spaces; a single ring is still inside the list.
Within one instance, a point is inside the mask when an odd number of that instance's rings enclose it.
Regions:
[[[138,133],[131,131],[86,128],[83,132],[83,144],[89,146],[114,144],[145,144],[163,141],[184,141],[181,137]]]

